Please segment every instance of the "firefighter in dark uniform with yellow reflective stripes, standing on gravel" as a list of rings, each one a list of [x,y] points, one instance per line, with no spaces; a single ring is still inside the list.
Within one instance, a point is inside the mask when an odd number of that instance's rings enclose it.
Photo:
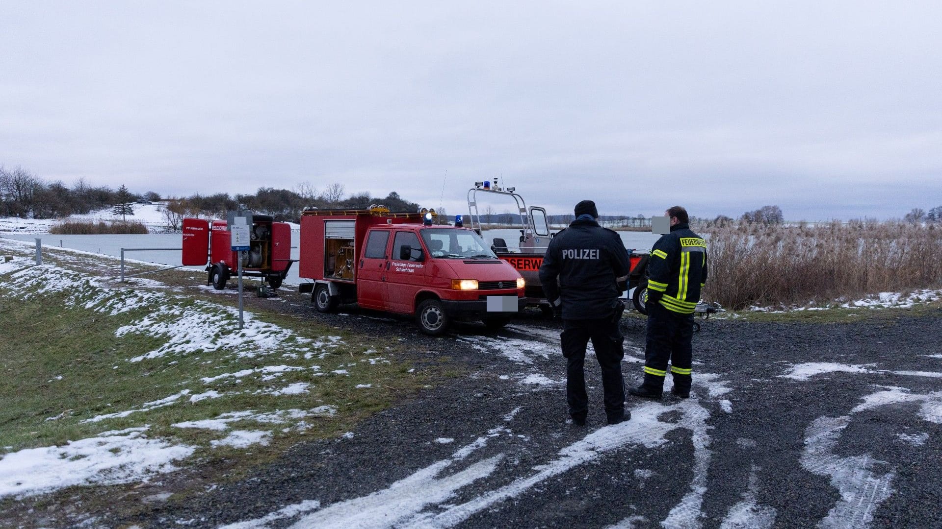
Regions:
[[[647,344],[644,349],[644,382],[628,393],[660,398],[671,361],[674,387],[671,393],[690,397],[693,309],[707,282],[707,243],[690,231],[687,210],[674,206],[664,212],[671,232],[662,235],[651,250],[647,287]]]

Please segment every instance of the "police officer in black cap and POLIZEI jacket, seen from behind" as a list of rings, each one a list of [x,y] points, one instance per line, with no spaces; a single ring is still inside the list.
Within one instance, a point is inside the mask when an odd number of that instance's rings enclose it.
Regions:
[[[625,306],[616,278],[628,275],[628,252],[618,233],[602,228],[595,219],[595,202],[576,204],[576,220],[553,237],[540,266],[540,282],[554,311],[562,314],[560,342],[566,358],[566,398],[574,425],[585,425],[586,345],[592,340],[602,368],[605,413],[609,425],[631,418],[625,412],[622,358],[625,337],[618,328]],[[559,280],[559,283],[557,283]]]

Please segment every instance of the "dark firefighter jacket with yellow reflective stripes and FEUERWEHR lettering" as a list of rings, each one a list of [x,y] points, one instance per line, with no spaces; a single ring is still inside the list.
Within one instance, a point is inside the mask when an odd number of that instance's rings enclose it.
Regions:
[[[648,296],[674,313],[691,314],[707,283],[707,243],[687,224],[671,227],[651,250]]]

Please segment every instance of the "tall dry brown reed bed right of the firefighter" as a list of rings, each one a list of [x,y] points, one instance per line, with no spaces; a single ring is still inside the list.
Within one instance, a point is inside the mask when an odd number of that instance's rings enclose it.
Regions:
[[[733,310],[942,288],[942,228],[899,222],[705,229],[704,298]]]

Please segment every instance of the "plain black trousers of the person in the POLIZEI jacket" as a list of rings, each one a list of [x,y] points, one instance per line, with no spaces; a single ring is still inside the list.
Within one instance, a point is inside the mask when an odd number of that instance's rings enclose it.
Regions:
[[[625,336],[612,318],[592,320],[562,320],[560,343],[566,358],[566,400],[569,414],[585,417],[589,397],[583,366],[586,345],[592,340],[595,359],[602,368],[602,388],[605,392],[605,413],[609,418],[621,417],[625,411],[625,384],[622,380],[622,359],[625,358]]]

